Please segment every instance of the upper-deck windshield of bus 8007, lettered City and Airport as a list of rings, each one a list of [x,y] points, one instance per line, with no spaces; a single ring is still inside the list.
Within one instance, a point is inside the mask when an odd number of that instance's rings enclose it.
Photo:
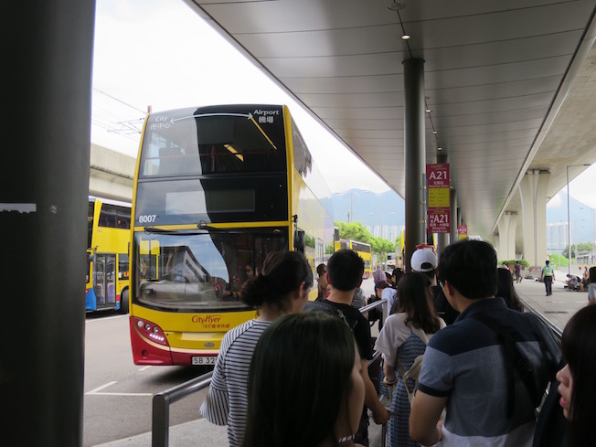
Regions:
[[[146,123],[140,178],[285,170],[281,107],[185,109],[154,113]]]

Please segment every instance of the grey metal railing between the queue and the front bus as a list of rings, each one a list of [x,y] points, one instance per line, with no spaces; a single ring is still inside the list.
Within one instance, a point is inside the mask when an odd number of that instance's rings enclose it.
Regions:
[[[383,306],[383,321],[387,318],[387,300],[380,300],[375,303],[370,303],[359,309],[360,313]],[[368,360],[368,367],[375,362],[380,362],[381,354],[375,352],[373,357]],[[208,388],[211,383],[211,376],[213,372],[208,372],[198,378],[193,378],[174,388],[166,389],[165,391],[156,394],[153,399],[153,416],[151,422],[151,445],[152,447],[168,447],[170,437],[170,405],[178,400],[184,399],[191,394]],[[382,445],[385,447],[385,444]]]

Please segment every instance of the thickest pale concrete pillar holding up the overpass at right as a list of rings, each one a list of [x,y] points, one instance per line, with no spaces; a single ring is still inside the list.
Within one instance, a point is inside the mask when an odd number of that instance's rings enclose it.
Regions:
[[[547,188],[550,173],[527,171],[519,185],[524,233],[523,256],[530,266],[542,266],[547,259]]]

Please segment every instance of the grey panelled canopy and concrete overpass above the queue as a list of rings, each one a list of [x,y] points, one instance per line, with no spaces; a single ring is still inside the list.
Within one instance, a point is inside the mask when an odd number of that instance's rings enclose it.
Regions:
[[[554,195],[596,160],[594,0],[186,3],[402,197],[402,62],[424,59],[427,163],[448,154],[469,234],[520,210],[528,168]]]

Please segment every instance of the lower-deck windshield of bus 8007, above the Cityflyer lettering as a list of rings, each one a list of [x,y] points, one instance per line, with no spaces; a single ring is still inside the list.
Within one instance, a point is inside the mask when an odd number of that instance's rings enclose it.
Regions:
[[[267,253],[287,247],[287,229],[139,232],[135,296],[173,312],[246,309],[242,284],[261,270]]]

